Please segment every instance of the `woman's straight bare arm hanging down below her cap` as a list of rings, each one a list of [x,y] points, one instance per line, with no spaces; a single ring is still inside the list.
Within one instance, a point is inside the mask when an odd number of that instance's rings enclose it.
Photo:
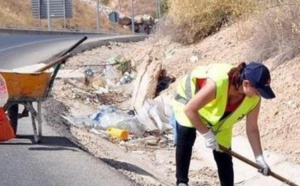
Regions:
[[[260,101],[256,107],[247,114],[246,132],[255,157],[262,155],[260,135],[258,129],[258,114],[260,110]]]

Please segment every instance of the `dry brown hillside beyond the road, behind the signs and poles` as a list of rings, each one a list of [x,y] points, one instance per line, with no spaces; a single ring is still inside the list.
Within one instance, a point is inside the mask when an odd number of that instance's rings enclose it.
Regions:
[[[9,28],[48,28],[47,19],[37,19],[32,16],[32,0],[1,0],[0,2],[0,27]],[[73,18],[67,19],[51,19],[52,29],[72,29],[72,30],[97,30],[97,0],[73,0]],[[105,1],[99,0],[100,3]],[[131,4],[129,1],[115,0],[106,1],[107,6],[112,10],[121,11],[122,14],[131,16]],[[119,4],[120,3],[120,4]],[[140,2],[135,1],[135,14],[155,14],[155,1]],[[100,29],[114,31],[122,30],[122,26],[111,23],[107,15],[99,14]]]

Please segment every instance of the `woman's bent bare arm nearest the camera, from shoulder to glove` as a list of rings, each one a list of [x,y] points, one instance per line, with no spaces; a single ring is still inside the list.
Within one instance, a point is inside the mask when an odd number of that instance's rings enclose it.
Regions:
[[[201,133],[205,134],[209,129],[204,125],[198,111],[212,101],[216,95],[215,83],[207,79],[206,83],[197,94],[188,102],[184,108],[186,116],[189,118],[190,122],[194,127]]]

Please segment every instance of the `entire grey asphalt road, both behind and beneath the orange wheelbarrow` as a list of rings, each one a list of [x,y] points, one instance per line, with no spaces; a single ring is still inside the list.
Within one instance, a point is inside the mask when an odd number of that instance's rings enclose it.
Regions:
[[[0,34],[0,68],[38,63],[81,38]],[[17,133],[18,138],[0,143],[0,186],[135,185],[117,170],[59,136],[45,121],[41,144],[33,143],[29,118],[19,120]]]

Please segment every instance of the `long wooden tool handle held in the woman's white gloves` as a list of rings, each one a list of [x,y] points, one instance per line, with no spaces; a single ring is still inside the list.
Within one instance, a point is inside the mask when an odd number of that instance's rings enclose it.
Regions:
[[[238,153],[236,153],[236,152],[234,152],[232,150],[229,150],[226,147],[223,147],[222,145],[219,145],[219,147],[225,153],[227,153],[227,154],[229,154],[229,155],[231,155],[231,156],[233,156],[233,157],[235,157],[235,158],[237,158],[237,159],[239,159],[239,160],[241,160],[241,161],[243,161],[243,162],[251,165],[252,167],[255,167],[257,169],[260,168],[260,166],[257,163],[255,163],[255,162],[253,162],[253,161],[251,161],[251,160],[249,160],[249,159],[247,159],[247,158],[239,155]],[[269,175],[273,176],[274,178],[276,178],[276,179],[278,179],[278,180],[280,180],[280,181],[282,181],[282,182],[284,182],[284,183],[286,183],[286,184],[288,184],[290,186],[299,186],[296,183],[293,183],[292,181],[290,181],[290,180],[288,180],[288,179],[286,179],[286,178],[284,178],[284,177],[282,177],[282,176],[280,176],[280,175],[278,175],[278,174],[276,174],[276,173],[274,173],[272,171],[269,172]]]

